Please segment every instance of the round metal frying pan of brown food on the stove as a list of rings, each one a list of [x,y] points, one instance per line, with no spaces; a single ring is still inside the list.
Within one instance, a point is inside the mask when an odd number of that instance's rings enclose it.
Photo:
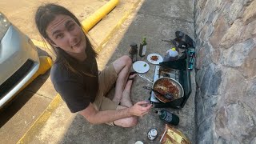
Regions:
[[[159,83],[160,83],[162,80],[164,80],[164,79],[167,79],[169,82],[172,83],[173,86],[175,86],[175,87],[178,89],[178,94],[175,94],[175,98],[174,98],[173,100],[175,100],[175,99],[177,99],[177,98],[182,98],[182,97],[184,96],[184,90],[183,90],[183,88],[182,88],[182,85],[181,85],[179,82],[177,82],[176,80],[174,80],[173,78],[167,78],[167,77],[158,78],[158,79],[153,83],[152,88],[153,88],[154,90],[156,90],[156,89],[160,86]],[[165,86],[160,86],[160,87],[161,87],[161,89],[166,89]],[[168,90],[166,90],[166,91],[168,91]],[[158,94],[154,94],[154,96],[155,96],[155,98],[158,98],[158,100],[161,101],[161,102],[171,102],[171,101],[173,101],[173,100],[164,98],[164,97],[162,97],[161,95],[158,95]]]

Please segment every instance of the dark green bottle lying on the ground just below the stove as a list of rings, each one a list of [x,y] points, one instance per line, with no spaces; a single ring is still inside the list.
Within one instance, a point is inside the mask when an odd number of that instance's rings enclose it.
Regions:
[[[171,114],[169,111],[167,110],[156,110],[155,111],[156,114],[159,115],[159,118],[162,119],[163,121],[166,121],[168,123],[170,123],[171,125],[177,126],[178,122],[179,122],[179,118],[177,115],[175,114]]]

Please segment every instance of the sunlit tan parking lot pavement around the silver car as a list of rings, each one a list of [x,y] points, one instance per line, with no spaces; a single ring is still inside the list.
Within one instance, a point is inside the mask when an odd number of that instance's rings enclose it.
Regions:
[[[26,0],[9,0],[0,1],[0,10],[6,17],[17,26],[24,34],[30,38],[41,40],[38,30],[34,26],[34,12],[38,6],[45,2],[57,2],[62,6],[66,6],[69,10],[78,15],[80,20],[83,20],[93,14],[101,6],[108,1],[102,0],[76,0],[74,2],[56,0],[42,0],[42,1],[26,1]],[[104,39],[110,30],[102,30],[102,36],[99,39]],[[46,48],[38,48],[38,54],[49,54],[50,50]],[[15,100],[9,104],[4,110],[0,111],[0,143],[16,143],[33,123],[40,117],[50,102],[53,101],[57,92],[54,90],[49,78],[50,71],[41,76],[38,76],[30,83],[21,93],[19,93]]]

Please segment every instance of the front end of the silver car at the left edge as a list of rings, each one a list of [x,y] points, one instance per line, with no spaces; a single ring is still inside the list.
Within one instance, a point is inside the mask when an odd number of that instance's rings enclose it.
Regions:
[[[0,12],[0,109],[37,72],[37,47]]]

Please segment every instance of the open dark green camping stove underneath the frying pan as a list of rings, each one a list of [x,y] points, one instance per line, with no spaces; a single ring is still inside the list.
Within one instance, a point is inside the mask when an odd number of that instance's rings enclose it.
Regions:
[[[155,82],[158,78],[162,77],[173,78],[181,84],[184,90],[183,97],[166,103],[159,102],[158,99],[155,98],[154,93],[151,92],[150,102],[154,103],[155,108],[173,107],[180,109],[185,105],[187,99],[190,97],[192,89],[189,69],[190,58],[188,57],[188,55],[188,51],[186,50],[184,57],[176,61],[160,62],[158,66],[155,66],[153,82]]]

